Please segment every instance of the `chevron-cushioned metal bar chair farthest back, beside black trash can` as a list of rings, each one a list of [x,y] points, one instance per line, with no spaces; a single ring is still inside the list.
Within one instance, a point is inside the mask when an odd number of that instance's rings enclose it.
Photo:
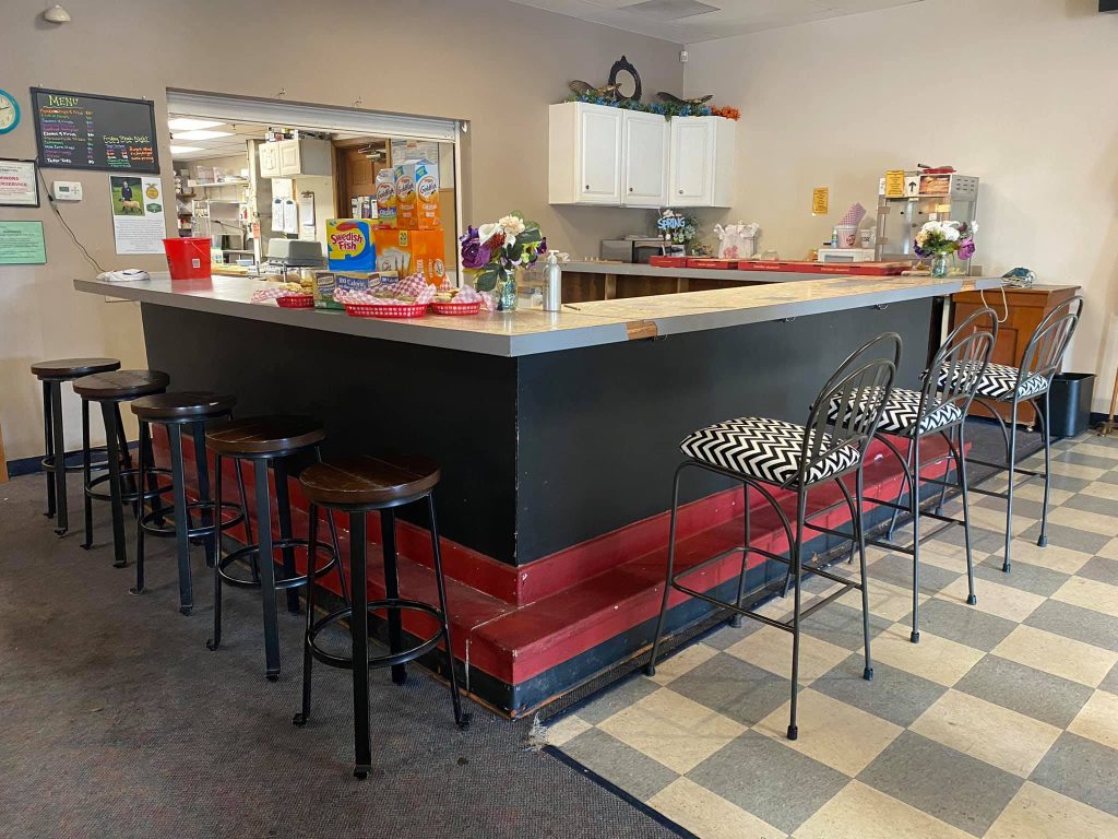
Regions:
[[[1063,357],[1071,339],[1076,334],[1079,319],[1083,313],[1083,299],[1079,295],[1064,301],[1049,312],[1025,346],[1021,356],[1021,366],[991,364],[978,384],[975,402],[982,405],[997,421],[1005,441],[1005,463],[967,458],[969,463],[980,466],[992,466],[1008,473],[1005,492],[974,487],[973,490],[983,496],[993,496],[1005,500],[1005,555],[1002,558],[1002,571],[1008,573],[1012,567],[1011,544],[1013,527],[1013,491],[1018,474],[1044,479],[1044,502],[1041,507],[1041,532],[1036,539],[1040,547],[1048,545],[1048,506],[1051,488],[1052,439],[1049,434],[1049,392],[1052,389],[1052,377],[1060,370]],[[1017,465],[1017,416],[1021,404],[1031,403],[1040,418],[1041,440],[1044,444],[1044,471],[1022,469]],[[1041,403],[1043,402],[1043,407]],[[1010,405],[1010,422],[1006,423],[994,404]]]

